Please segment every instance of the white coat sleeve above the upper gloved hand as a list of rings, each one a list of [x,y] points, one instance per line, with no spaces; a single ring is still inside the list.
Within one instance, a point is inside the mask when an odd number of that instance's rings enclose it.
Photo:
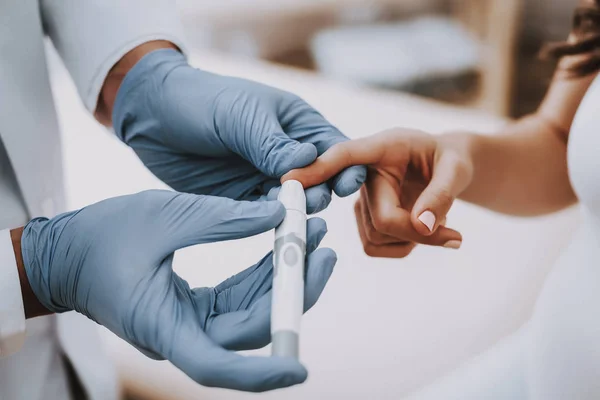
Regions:
[[[168,40],[184,53],[174,0],[40,0],[42,22],[90,112],[110,69],[131,49]]]

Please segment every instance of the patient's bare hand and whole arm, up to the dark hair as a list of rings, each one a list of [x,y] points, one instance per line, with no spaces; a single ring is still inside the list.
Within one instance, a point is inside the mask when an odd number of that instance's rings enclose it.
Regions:
[[[563,58],[538,110],[497,135],[390,129],[336,145],[282,181],[308,188],[351,165],[367,165],[355,215],[373,257],[405,257],[417,244],[459,248],[461,234],[445,226],[455,199],[518,216],[569,207],[577,202],[566,163],[569,130],[596,75],[566,72],[581,57]]]

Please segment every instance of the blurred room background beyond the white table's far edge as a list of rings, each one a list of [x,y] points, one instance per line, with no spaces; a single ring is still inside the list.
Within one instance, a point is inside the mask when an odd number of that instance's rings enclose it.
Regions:
[[[502,116],[535,109],[575,0],[178,0],[191,44]]]

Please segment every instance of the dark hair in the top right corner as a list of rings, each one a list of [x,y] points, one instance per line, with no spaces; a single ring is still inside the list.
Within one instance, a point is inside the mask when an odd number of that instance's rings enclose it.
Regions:
[[[600,0],[580,6],[573,15],[572,38],[569,41],[549,43],[540,52],[543,58],[560,59],[565,56],[585,55],[568,67],[574,76],[584,76],[600,70]]]

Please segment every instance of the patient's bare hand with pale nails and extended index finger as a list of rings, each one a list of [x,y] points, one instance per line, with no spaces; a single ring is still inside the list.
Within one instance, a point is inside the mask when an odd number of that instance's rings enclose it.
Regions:
[[[308,167],[290,171],[305,188],[351,165],[368,165],[354,208],[365,252],[405,257],[419,243],[459,248],[462,236],[445,226],[454,199],[472,179],[467,153],[443,136],[392,129],[335,145]]]

